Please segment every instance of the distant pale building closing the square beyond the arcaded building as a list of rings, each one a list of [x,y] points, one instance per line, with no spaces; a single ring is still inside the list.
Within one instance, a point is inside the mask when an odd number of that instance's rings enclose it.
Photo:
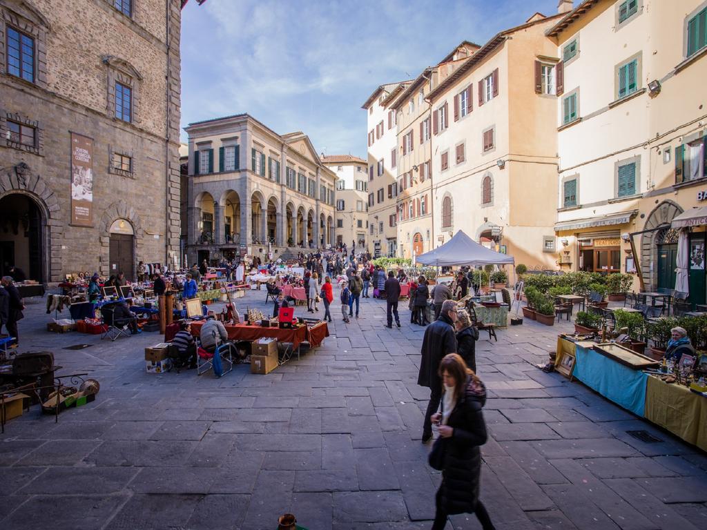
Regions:
[[[352,155],[322,155],[337,175],[335,244],[363,252],[368,247],[368,163]]]

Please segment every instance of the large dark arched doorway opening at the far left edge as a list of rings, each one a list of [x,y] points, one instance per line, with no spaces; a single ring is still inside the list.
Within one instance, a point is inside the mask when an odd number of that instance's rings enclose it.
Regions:
[[[0,273],[11,266],[29,280],[45,282],[44,212],[30,196],[13,193],[0,199]]]

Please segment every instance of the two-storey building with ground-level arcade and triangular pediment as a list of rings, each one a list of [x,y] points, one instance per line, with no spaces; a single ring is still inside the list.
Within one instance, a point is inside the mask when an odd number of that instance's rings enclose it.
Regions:
[[[334,245],[337,177],[308,136],[281,136],[249,114],[185,131],[189,264]]]

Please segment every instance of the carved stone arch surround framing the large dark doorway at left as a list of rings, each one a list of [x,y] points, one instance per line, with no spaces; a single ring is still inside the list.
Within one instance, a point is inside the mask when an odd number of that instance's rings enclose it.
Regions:
[[[0,169],[0,199],[22,194],[32,199],[42,213],[42,278],[47,281],[62,280],[62,209],[54,189],[35,174],[30,166],[21,162]]]

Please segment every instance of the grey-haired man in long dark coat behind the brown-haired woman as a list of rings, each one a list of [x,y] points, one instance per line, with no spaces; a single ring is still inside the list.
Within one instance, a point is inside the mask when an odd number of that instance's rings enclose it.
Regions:
[[[422,338],[420,353],[420,372],[417,384],[430,389],[430,401],[422,427],[422,443],[432,438],[431,416],[437,412],[442,399],[442,379],[438,374],[440,361],[449,353],[457,353],[457,337],[454,323],[457,320],[457,305],[452,300],[445,300],[440,310],[440,317],[427,326]]]

